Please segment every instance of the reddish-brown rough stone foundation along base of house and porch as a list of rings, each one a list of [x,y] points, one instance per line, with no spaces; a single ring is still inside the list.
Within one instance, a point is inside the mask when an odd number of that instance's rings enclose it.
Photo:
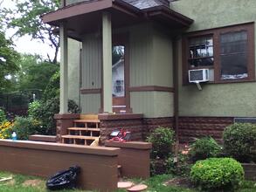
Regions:
[[[174,118],[143,118],[142,114],[99,114],[100,141],[104,144],[109,134],[116,129],[123,128],[132,133],[131,141],[145,141],[156,127],[174,127]],[[80,114],[56,114],[57,141],[60,135],[67,134],[67,127],[73,127],[73,120],[80,119]],[[233,123],[232,117],[179,117],[180,143],[188,143],[195,138],[211,136],[222,142],[225,127]]]

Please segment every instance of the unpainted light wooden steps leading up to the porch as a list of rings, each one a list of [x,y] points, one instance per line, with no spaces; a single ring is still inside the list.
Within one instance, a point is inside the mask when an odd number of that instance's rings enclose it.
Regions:
[[[97,145],[100,141],[100,120],[97,114],[81,114],[80,120],[73,120],[74,127],[67,128],[61,136],[62,143]]]

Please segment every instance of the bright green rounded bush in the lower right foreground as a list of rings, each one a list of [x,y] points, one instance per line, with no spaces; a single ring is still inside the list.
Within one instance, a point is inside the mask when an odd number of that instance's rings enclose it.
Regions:
[[[191,168],[190,179],[199,188],[207,190],[238,189],[244,180],[244,169],[232,158],[209,158]]]

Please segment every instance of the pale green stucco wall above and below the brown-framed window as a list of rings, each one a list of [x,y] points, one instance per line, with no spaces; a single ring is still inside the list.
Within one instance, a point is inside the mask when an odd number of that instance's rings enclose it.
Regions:
[[[179,0],[172,8],[195,20],[189,31],[256,21],[255,0]],[[182,44],[179,54],[179,111],[181,116],[256,116],[256,83],[182,86]]]

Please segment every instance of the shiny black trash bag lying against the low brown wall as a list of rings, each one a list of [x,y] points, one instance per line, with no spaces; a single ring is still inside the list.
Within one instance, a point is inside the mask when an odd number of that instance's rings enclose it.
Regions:
[[[47,189],[73,189],[76,187],[77,177],[80,174],[80,167],[73,166],[64,171],[59,171],[50,177],[46,182]]]

